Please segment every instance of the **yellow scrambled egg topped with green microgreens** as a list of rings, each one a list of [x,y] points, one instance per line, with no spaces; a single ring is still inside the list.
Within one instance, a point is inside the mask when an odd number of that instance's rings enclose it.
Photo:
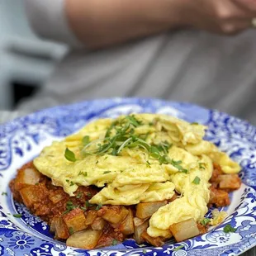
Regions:
[[[238,173],[240,167],[203,140],[206,126],[157,114],[128,117],[93,121],[45,147],[34,164],[70,196],[78,186],[102,187],[90,200],[93,204],[128,206],[167,200],[178,192],[178,199],[160,207],[149,220],[150,236],[168,238],[173,223],[198,221],[206,214],[213,162],[224,173]],[[122,142],[109,139],[118,133],[125,138]]]

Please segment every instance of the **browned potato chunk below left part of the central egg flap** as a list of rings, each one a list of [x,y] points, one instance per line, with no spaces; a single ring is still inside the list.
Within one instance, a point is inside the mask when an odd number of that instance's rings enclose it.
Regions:
[[[112,206],[107,209],[102,218],[111,223],[119,223],[126,218],[129,211],[125,206]]]

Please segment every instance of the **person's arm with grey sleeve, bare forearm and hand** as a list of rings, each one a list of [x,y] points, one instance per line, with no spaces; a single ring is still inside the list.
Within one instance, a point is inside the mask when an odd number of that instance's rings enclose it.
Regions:
[[[79,42],[88,49],[180,27],[233,35],[248,29],[256,17],[256,10],[249,7],[254,0],[25,1],[31,24],[40,36],[69,45]]]

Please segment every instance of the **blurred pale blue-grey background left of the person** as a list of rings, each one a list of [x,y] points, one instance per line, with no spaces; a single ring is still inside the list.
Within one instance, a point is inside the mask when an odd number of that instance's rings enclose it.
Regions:
[[[1,0],[0,110],[12,110],[43,86],[67,50],[31,31],[23,0]]]

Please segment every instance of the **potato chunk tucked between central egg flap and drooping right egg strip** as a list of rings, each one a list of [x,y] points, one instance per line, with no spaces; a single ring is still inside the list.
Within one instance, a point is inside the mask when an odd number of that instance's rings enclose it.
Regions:
[[[160,207],[165,206],[168,201],[152,201],[152,202],[140,202],[136,206],[136,217],[140,219],[149,218],[158,211]]]

